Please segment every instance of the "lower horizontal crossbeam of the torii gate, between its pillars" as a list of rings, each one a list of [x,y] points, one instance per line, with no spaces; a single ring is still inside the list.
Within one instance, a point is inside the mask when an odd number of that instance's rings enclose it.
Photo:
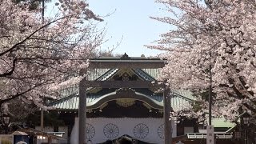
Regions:
[[[162,85],[151,81],[86,81],[85,86],[102,88],[158,88]]]

